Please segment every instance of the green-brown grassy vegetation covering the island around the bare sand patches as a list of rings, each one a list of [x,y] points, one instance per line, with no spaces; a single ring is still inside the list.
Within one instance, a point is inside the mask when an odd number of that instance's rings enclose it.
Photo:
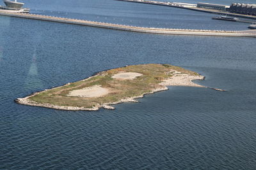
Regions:
[[[99,104],[117,103],[121,99],[141,96],[152,92],[154,89],[159,89],[163,87],[163,85],[159,85],[159,83],[166,78],[172,77],[173,71],[179,71],[180,73],[195,76],[198,75],[198,73],[193,71],[188,71],[181,67],[171,66],[169,64],[125,66],[102,71],[95,76],[74,83],[68,83],[62,87],[38,92],[35,95],[28,97],[28,100],[33,103],[52,104],[56,106],[93,108],[99,106]],[[142,75],[130,80],[113,78],[117,73],[130,72],[140,73]],[[70,92],[73,90],[93,87],[95,85],[109,89],[109,93],[101,97],[69,96]]]

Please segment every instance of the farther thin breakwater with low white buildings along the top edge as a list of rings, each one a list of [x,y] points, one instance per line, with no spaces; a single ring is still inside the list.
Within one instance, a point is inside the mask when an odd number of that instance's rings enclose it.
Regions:
[[[174,8],[182,8],[185,10],[200,11],[200,12],[205,12],[205,13],[214,13],[217,15],[229,15],[232,17],[249,18],[249,19],[256,20],[256,16],[244,15],[244,14],[239,14],[239,13],[230,13],[228,11],[212,10],[212,9],[207,9],[207,8],[197,8],[196,4],[194,4],[194,6],[189,6],[186,4],[182,5],[182,3],[170,3],[170,2],[147,1],[147,0],[116,0],[116,1],[169,6],[169,7],[174,7]]]

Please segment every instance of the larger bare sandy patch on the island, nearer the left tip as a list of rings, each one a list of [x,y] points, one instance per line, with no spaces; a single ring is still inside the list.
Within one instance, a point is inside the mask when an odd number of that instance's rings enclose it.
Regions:
[[[93,85],[92,87],[86,87],[84,89],[72,90],[68,96],[76,97],[101,97],[109,94],[109,90],[100,85]]]

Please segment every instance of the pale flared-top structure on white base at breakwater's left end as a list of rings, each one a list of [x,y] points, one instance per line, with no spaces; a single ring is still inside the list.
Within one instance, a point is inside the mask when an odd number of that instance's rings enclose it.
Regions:
[[[6,6],[0,6],[0,11],[15,12],[15,13],[29,13],[30,9],[22,8],[24,3],[19,3],[17,0],[3,0]]]

